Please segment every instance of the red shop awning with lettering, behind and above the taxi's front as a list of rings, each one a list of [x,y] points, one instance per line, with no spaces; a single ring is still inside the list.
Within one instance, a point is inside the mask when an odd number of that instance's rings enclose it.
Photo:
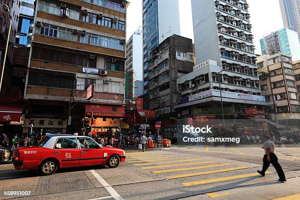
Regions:
[[[125,117],[123,106],[85,105],[85,114],[93,117]]]

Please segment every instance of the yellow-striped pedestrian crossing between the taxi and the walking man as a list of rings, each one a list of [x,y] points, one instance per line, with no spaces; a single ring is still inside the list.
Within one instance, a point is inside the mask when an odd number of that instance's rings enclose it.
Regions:
[[[238,152],[239,150],[234,151],[234,153],[241,153]],[[250,169],[252,168],[251,166],[243,166],[241,163],[231,163],[228,160],[224,162],[222,159],[204,157],[203,154],[200,156],[193,155],[192,157],[190,155],[185,156],[184,153],[171,153],[170,151],[159,153],[139,152],[130,153],[129,159],[126,159],[125,162],[141,170],[161,175],[166,179],[179,179],[181,180],[180,184],[184,187],[261,177],[256,173],[257,169]],[[256,165],[255,167],[260,167],[260,165]],[[217,177],[209,176],[213,174],[217,174]],[[268,174],[273,173],[266,172],[266,175]],[[222,176],[220,177],[220,175]],[[192,177],[191,181],[188,181],[190,179],[186,179],[186,177]]]

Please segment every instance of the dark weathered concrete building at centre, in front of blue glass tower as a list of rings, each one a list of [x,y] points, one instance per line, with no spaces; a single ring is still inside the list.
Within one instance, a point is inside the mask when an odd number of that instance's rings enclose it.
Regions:
[[[162,125],[175,125],[176,79],[192,72],[193,67],[192,39],[174,34],[151,52],[149,108],[156,110],[156,119]]]

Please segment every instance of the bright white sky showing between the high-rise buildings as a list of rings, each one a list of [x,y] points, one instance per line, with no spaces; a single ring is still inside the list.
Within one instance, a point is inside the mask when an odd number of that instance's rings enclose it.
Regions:
[[[142,0],[129,0],[127,9],[127,39],[142,26]],[[248,0],[250,23],[254,35],[255,52],[260,54],[259,39],[272,31],[283,28],[278,0]],[[190,0],[179,0],[181,36],[194,39],[192,8]]]

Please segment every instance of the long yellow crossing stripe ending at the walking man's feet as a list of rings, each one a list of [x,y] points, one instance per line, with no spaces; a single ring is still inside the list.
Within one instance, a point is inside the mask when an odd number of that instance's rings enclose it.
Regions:
[[[273,174],[273,173],[266,172],[265,174]],[[184,186],[192,186],[192,185],[201,185],[201,184],[214,183],[214,182],[220,182],[220,181],[226,181],[226,180],[234,180],[234,179],[239,179],[239,178],[254,177],[254,176],[261,176],[261,175],[259,175],[257,173],[250,173],[250,174],[245,174],[245,175],[233,175],[233,176],[212,178],[212,179],[199,180],[199,181],[187,182],[187,183],[181,183],[181,184]]]

